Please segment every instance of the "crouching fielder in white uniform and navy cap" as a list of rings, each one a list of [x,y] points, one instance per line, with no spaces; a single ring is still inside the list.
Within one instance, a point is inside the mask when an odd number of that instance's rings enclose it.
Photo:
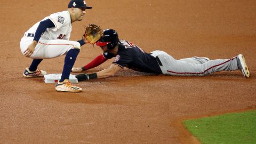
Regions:
[[[66,54],[60,81],[55,89],[57,91],[81,92],[80,87],[69,82],[69,75],[80,47],[87,43],[84,39],[74,42],[69,41],[72,23],[81,21],[85,15],[86,6],[83,0],[71,0],[68,10],[53,13],[49,17],[37,22],[26,31],[20,41],[20,50],[23,55],[33,59],[31,65],[23,73],[25,77],[40,77],[46,71],[37,69],[43,59],[50,59]]]

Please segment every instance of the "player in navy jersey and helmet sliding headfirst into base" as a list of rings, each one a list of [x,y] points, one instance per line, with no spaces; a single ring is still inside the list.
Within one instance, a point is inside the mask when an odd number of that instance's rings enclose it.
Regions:
[[[97,67],[113,57],[115,57],[115,60],[109,68],[97,73],[77,75],[78,81],[111,77],[124,67],[145,73],[177,76],[205,76],[216,71],[239,69],[245,77],[250,77],[249,69],[242,54],[238,54],[231,59],[210,60],[209,58],[193,57],[175,60],[166,52],[153,51],[146,53],[137,45],[125,40],[119,41],[118,34],[113,29],[103,30],[103,35],[96,45],[101,47],[103,54],[84,67],[73,68],[73,72],[81,72]]]

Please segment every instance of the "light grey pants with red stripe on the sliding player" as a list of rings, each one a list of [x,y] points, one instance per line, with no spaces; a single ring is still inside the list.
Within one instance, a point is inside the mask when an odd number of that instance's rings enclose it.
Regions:
[[[151,52],[153,57],[158,57],[163,66],[160,66],[163,74],[178,76],[204,76],[216,71],[237,70],[237,58],[210,60],[199,63],[193,58],[175,60],[171,55],[163,51]]]

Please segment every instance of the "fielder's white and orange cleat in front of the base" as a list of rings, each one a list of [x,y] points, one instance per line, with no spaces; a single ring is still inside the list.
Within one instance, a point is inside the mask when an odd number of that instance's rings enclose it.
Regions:
[[[61,92],[82,92],[82,88],[72,85],[69,79],[65,79],[63,82],[58,81],[55,89]]]

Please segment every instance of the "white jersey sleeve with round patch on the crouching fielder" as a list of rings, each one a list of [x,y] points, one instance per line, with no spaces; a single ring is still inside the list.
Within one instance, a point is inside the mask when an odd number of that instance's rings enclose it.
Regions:
[[[68,22],[68,18],[66,17],[65,14],[59,12],[59,13],[54,13],[49,16],[49,19],[54,23],[54,28],[52,28],[53,31],[57,31],[60,29],[63,25]]]

